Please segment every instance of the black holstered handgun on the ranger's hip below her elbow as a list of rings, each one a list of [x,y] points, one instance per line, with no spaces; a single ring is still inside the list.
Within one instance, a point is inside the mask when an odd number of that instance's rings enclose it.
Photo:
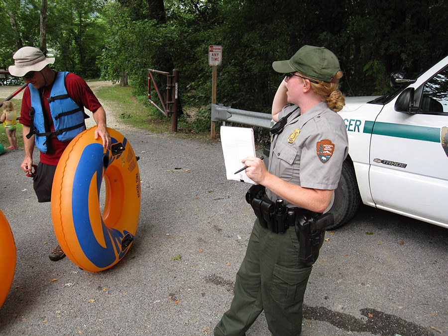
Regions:
[[[299,260],[315,262],[324,238],[325,229],[333,225],[333,214],[307,214],[296,220],[296,234],[299,238]]]

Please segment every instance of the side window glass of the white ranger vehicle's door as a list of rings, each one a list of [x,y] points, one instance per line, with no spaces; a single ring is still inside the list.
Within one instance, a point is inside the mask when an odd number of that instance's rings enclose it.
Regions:
[[[423,87],[420,111],[448,114],[448,67],[430,79]]]

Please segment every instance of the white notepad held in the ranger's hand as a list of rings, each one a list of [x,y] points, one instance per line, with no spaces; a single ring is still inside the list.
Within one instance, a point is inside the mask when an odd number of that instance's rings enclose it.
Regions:
[[[235,172],[244,165],[241,160],[255,156],[253,129],[245,127],[221,126],[221,145],[223,146],[225,174],[227,180],[256,184],[249,179],[245,171]]]

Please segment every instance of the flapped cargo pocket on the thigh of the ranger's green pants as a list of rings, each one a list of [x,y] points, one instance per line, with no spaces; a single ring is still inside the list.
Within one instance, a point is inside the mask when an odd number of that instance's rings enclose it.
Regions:
[[[302,301],[311,269],[312,266],[297,269],[275,265],[271,283],[272,298],[287,305]]]

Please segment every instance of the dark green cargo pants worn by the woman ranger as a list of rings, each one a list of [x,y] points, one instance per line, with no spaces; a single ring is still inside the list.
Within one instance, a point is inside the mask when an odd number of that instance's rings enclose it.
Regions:
[[[264,310],[274,336],[300,336],[303,296],[312,264],[298,259],[295,227],[274,233],[255,221],[246,255],[236,274],[230,309],[215,336],[242,336]]]

